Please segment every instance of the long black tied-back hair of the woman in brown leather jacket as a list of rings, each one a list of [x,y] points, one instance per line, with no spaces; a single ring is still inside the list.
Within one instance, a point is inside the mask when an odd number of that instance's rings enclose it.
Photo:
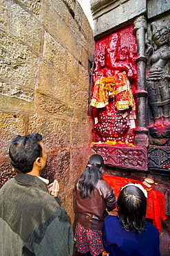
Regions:
[[[99,179],[102,179],[104,166],[103,157],[94,154],[89,158],[87,167],[78,180],[78,188],[81,190],[81,198],[91,197],[92,190],[96,187]]]

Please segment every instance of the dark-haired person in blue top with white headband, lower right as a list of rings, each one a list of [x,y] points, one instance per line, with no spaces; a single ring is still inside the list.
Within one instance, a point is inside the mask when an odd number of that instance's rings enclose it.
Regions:
[[[147,190],[128,183],[118,196],[118,216],[108,215],[103,223],[103,246],[109,256],[160,256],[159,234],[145,220]]]

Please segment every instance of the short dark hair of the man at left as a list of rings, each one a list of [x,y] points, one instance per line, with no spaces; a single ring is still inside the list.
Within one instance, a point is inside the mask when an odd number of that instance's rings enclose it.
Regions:
[[[12,140],[9,149],[10,163],[17,172],[31,172],[34,161],[42,156],[42,147],[39,142],[42,140],[41,134],[28,134],[17,136]]]

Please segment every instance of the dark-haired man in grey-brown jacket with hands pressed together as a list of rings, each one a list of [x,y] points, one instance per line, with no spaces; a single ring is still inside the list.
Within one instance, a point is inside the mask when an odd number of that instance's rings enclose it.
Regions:
[[[17,136],[9,150],[17,171],[0,190],[0,255],[72,255],[74,238],[67,214],[40,172],[47,154],[40,134]],[[52,188],[50,187],[50,191]]]

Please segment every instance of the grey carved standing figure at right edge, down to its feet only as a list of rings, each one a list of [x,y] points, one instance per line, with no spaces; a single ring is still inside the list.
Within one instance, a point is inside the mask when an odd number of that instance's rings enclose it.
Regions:
[[[153,116],[150,127],[170,126],[170,60],[169,29],[158,22],[151,24],[151,44],[147,42],[146,54],[149,56],[147,73],[147,91]],[[158,137],[158,133],[157,133]]]

